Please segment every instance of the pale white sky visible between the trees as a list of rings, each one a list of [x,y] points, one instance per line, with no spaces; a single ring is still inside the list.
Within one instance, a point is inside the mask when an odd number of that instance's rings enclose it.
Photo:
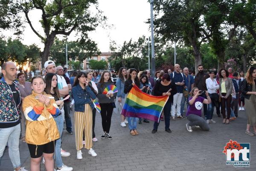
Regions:
[[[111,29],[103,29],[98,26],[95,31],[89,33],[89,37],[96,41],[101,52],[109,52],[109,43],[115,41],[117,45],[122,45],[124,41],[129,41],[131,38],[137,41],[139,37],[151,35],[149,24],[146,24],[150,18],[150,4],[148,0],[98,0],[99,9],[108,17],[108,24],[113,25]],[[40,20],[41,12],[38,10],[29,13],[34,28],[43,35]],[[5,35],[12,37],[12,32],[5,32]],[[44,44],[35,35],[29,25],[26,25],[22,43],[31,45],[37,44],[41,49]],[[61,39],[61,37],[59,37]],[[75,32],[72,32],[68,37],[70,41],[75,41]]]

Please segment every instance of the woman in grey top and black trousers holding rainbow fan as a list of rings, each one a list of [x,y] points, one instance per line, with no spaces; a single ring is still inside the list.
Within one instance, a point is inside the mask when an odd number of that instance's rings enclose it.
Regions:
[[[116,96],[116,93],[103,94],[105,88],[111,85],[114,85],[114,83],[111,81],[110,72],[105,70],[102,72],[102,76],[97,84],[99,92],[97,97],[101,107],[100,114],[102,116],[102,128],[104,131],[101,136],[102,139],[105,139],[106,137],[108,139],[112,139],[112,136],[109,134],[109,130],[111,126],[113,108],[115,107],[114,96]]]

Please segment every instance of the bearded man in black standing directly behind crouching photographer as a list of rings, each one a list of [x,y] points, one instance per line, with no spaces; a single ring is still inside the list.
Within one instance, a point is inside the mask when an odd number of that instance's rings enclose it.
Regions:
[[[195,75],[194,87],[198,87],[198,90],[207,90],[206,79],[209,78],[209,74],[204,72],[203,65],[198,65],[198,73]],[[201,94],[201,97],[207,99],[205,94]],[[204,104],[204,117],[207,115],[207,104]]]

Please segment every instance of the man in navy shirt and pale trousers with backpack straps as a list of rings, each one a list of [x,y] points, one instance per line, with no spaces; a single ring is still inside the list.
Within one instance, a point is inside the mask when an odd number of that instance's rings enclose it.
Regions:
[[[175,121],[175,109],[177,105],[177,119],[184,119],[180,113],[180,104],[183,97],[183,87],[185,85],[183,73],[180,73],[180,65],[175,64],[174,72],[170,74],[171,80],[175,82],[177,87],[177,93],[173,96],[173,104],[172,104],[172,120]]]

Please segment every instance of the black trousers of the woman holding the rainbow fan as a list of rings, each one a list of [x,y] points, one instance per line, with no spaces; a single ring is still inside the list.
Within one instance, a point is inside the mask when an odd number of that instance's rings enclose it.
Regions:
[[[101,107],[100,114],[102,116],[102,128],[104,132],[109,133],[111,126],[111,117],[113,113],[112,103],[100,103]]]

